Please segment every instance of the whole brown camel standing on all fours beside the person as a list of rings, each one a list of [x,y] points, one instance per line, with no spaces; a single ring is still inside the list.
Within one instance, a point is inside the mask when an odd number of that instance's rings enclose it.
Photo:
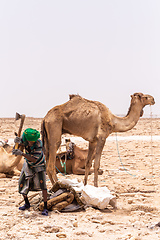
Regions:
[[[70,100],[52,108],[42,121],[42,137],[45,147],[47,173],[52,183],[57,181],[55,163],[56,151],[61,143],[61,135],[69,133],[89,141],[85,165],[84,184],[87,184],[92,155],[94,160],[94,186],[98,186],[98,169],[106,138],[112,132],[126,132],[132,129],[143,115],[146,105],[155,104],[154,98],[143,93],[131,96],[129,111],[125,117],[118,117],[102,103],[90,101],[79,95],[70,95]],[[53,178],[54,180],[53,180]]]

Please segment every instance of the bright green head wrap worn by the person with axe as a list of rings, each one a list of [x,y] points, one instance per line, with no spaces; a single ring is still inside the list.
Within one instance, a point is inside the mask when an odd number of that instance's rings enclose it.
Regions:
[[[24,142],[25,141],[36,142],[38,138],[40,138],[40,132],[37,131],[36,129],[27,128],[22,134],[22,139]]]

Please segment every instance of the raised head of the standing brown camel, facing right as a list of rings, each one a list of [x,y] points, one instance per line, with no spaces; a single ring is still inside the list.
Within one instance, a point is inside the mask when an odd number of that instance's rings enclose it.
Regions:
[[[154,104],[155,104],[155,100],[151,95],[143,94],[143,93],[134,93],[133,95],[131,95],[131,105],[127,115],[129,115],[133,105],[139,105],[142,108],[140,113],[140,117],[142,117],[143,108],[146,105],[154,105]]]

